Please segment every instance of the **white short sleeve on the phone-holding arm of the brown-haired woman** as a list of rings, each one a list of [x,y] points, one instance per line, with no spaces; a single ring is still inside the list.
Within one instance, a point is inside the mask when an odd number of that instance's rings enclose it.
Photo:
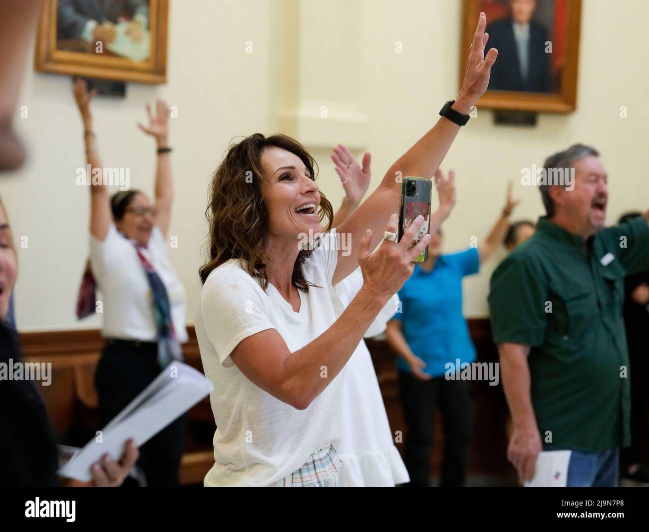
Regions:
[[[225,367],[234,365],[230,353],[241,340],[276,329],[265,313],[261,291],[250,275],[236,270],[215,271],[203,287],[202,322]]]

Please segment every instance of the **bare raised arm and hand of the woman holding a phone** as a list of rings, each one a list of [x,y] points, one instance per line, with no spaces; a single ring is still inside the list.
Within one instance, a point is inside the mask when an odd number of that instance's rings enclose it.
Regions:
[[[484,32],[486,24],[485,14],[481,13],[467,61],[464,81],[452,105],[454,110],[462,114],[469,114],[471,106],[487,90],[489,72],[498,55],[496,49],[492,48],[487,57],[484,56],[488,38]],[[356,260],[358,246],[365,229],[373,231],[371,246],[378,245],[387,220],[391,214],[398,212],[401,181],[399,178],[413,176],[430,179],[446,156],[458,131],[459,125],[447,118],[440,118],[433,129],[397,159],[373,194],[338,228],[339,232],[350,234],[352,252],[343,255],[342,250],[339,251],[334,285],[341,279],[345,279],[358,266]],[[350,161],[342,158],[341,162],[347,164]],[[436,231],[438,226],[435,227],[434,224],[443,221],[449,212],[450,209],[442,206],[442,209],[431,217],[430,231]]]

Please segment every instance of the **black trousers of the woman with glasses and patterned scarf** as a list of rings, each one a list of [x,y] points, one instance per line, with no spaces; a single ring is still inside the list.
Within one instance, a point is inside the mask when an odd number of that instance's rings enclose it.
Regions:
[[[161,371],[157,344],[108,340],[95,373],[101,426],[119,414]],[[138,466],[149,487],[178,486],[185,428],[183,414],[140,447]]]

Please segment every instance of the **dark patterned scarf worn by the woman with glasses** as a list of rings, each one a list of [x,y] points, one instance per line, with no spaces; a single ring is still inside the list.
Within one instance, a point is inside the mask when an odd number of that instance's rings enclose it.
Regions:
[[[178,344],[178,340],[176,340],[176,332],[173,328],[173,320],[171,320],[171,305],[169,304],[167,289],[162,283],[160,275],[153,269],[151,262],[142,253],[142,249],[146,249],[146,246],[134,240],[131,240],[131,243],[135,247],[136,253],[138,253],[144,273],[147,275],[147,281],[149,281],[151,310],[153,310],[153,320],[156,322],[156,328],[158,329],[158,363],[161,368],[165,368],[172,361],[182,361],[183,359],[182,349]],[[88,260],[77,298],[77,318],[79,320],[95,313],[96,288],[97,281],[92,275],[90,260]]]

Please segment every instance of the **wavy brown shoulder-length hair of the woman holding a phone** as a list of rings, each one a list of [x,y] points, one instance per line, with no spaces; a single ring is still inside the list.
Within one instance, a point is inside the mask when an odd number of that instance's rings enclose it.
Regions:
[[[199,268],[201,283],[205,283],[210,272],[227,260],[243,259],[247,272],[258,279],[263,290],[268,287],[265,269],[268,259],[264,252],[268,234],[268,210],[262,196],[262,183],[266,179],[262,155],[268,147],[286,149],[297,155],[315,179],[315,160],[302,144],[287,135],[265,137],[261,133],[255,133],[237,144],[230,144],[227,155],[210,181],[210,202],[205,209],[210,225],[207,246],[209,258]],[[329,231],[334,210],[322,192],[318,215],[321,221],[327,219],[326,231]],[[311,253],[309,249],[302,249],[293,264],[291,281],[304,292],[309,291],[309,286],[315,286],[304,279],[301,268]]]

